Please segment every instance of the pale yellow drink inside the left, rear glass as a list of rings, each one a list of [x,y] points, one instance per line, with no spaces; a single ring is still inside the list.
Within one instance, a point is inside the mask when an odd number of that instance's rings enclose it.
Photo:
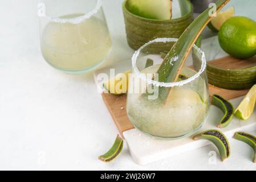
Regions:
[[[67,15],[61,18],[75,18]],[[41,49],[44,59],[57,69],[83,72],[102,63],[111,49],[106,24],[97,18],[79,24],[54,23],[42,32]]]

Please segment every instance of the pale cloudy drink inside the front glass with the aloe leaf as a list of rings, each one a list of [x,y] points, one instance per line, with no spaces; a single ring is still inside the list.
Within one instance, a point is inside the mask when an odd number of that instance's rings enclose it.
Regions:
[[[154,65],[141,72],[156,73],[159,66]],[[185,67],[181,73],[190,77],[196,72]],[[137,129],[154,137],[178,138],[189,135],[202,126],[208,115],[208,89],[202,77],[184,86],[174,87],[166,104],[160,98],[149,100],[147,94],[133,94],[130,91],[127,100],[129,120]]]

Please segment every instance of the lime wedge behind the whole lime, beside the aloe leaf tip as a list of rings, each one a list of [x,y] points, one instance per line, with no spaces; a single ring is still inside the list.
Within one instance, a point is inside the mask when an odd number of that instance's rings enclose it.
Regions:
[[[235,15],[235,9],[232,6],[226,11],[218,13],[216,17],[213,17],[213,19],[208,24],[208,27],[211,30],[217,32],[221,29],[222,24],[226,22],[227,19],[233,17],[234,15]]]

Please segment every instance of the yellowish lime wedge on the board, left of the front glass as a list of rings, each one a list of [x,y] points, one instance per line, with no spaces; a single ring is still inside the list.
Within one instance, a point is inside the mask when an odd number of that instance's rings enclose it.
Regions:
[[[111,94],[120,95],[123,93],[127,93],[128,83],[129,83],[129,73],[131,70],[128,70],[124,73],[119,73],[106,82],[104,82],[103,86],[107,91]]]

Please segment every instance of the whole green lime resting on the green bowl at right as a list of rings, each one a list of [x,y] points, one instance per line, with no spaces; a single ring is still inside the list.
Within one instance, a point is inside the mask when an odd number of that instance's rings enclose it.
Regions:
[[[256,22],[243,16],[229,18],[218,33],[220,46],[229,55],[248,59],[256,55]]]

